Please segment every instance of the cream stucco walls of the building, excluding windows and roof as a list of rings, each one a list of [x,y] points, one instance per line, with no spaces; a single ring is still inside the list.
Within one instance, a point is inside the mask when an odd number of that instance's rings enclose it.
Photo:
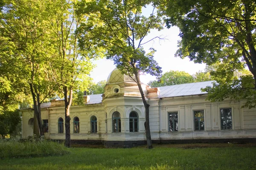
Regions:
[[[174,139],[225,139],[256,138],[256,109],[241,108],[242,102],[209,102],[206,95],[180,96],[163,99],[149,99],[150,129],[153,140]],[[221,130],[220,109],[232,108],[232,130]],[[194,130],[193,111],[204,110],[203,131]],[[118,111],[121,115],[121,133],[112,132],[112,114]],[[129,113],[136,111],[139,116],[138,132],[129,132]],[[178,112],[178,132],[168,130],[168,112]],[[28,125],[33,118],[33,111],[23,112],[23,137],[32,135],[33,127]],[[106,117],[107,115],[107,117]],[[79,117],[80,132],[73,133],[73,118]],[[97,133],[90,133],[90,117],[97,117]],[[50,139],[64,139],[64,133],[58,133],[58,118],[64,116],[64,107],[42,109],[42,119],[49,120]],[[142,100],[135,96],[119,96],[103,100],[103,103],[70,108],[71,139],[136,141],[145,140],[145,109]],[[105,123],[107,120],[107,123]]]

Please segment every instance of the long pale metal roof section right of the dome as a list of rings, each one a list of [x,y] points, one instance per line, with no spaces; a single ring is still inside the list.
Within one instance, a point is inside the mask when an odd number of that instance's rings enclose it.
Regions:
[[[180,85],[169,85],[158,87],[160,89],[160,98],[164,97],[176,97],[176,96],[189,96],[196,94],[207,94],[207,92],[202,92],[201,88],[205,88],[206,86],[212,87],[212,82],[192,82]]]

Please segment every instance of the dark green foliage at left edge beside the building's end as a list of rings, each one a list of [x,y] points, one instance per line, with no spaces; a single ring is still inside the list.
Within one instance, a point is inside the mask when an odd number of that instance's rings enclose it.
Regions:
[[[20,125],[20,113],[16,111],[3,111],[0,113],[0,138],[5,138],[8,134],[12,135],[15,133],[17,127]],[[21,125],[20,125],[21,126]]]

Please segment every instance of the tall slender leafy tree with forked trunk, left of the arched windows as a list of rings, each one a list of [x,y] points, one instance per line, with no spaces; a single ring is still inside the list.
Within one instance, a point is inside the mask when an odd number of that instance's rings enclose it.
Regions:
[[[81,91],[88,86],[88,74],[93,65],[90,59],[99,54],[97,48],[90,45],[90,39],[85,39],[83,48],[78,46],[80,36],[79,27],[93,26],[94,20],[77,11],[76,0],[52,0],[49,13],[53,31],[52,38],[55,40],[57,55],[52,62],[53,75],[59,87],[59,92],[64,95],[65,102],[65,145],[70,147],[70,106],[72,105],[73,91],[80,96],[75,104],[81,104]],[[84,37],[89,35],[86,32]],[[100,51],[100,50],[99,50]]]

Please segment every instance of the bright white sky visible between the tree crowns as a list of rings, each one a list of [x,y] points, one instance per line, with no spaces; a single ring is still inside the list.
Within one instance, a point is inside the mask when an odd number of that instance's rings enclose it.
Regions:
[[[143,15],[147,16],[151,13],[152,8],[144,8]],[[154,48],[156,50],[154,54],[154,59],[158,62],[158,65],[162,67],[163,74],[167,71],[185,71],[189,74],[195,74],[198,71],[204,71],[205,64],[195,64],[192,61],[189,61],[188,58],[180,59],[175,57],[177,51],[177,42],[180,40],[178,36],[180,33],[179,28],[171,27],[164,28],[161,31],[152,30],[147,37],[145,37],[144,42],[151,40],[154,37],[162,37],[165,40],[154,40],[143,45],[144,50],[147,52],[149,48]],[[90,74],[90,77],[93,78],[93,82],[99,82],[106,80],[108,75],[113,71],[116,66],[113,64],[113,61],[107,59],[99,59],[93,62],[96,67]],[[141,82],[147,84],[151,80],[156,78],[149,75],[141,75]]]

